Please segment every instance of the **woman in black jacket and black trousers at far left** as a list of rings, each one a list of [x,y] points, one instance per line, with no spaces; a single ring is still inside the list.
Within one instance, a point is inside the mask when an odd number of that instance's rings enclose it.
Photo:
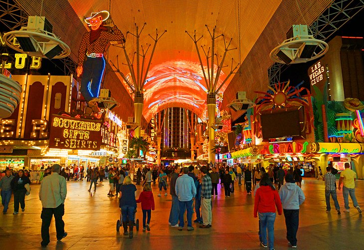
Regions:
[[[25,184],[30,184],[30,179],[24,175],[23,170],[19,170],[15,178],[11,180],[11,187],[14,192],[14,213],[19,213],[19,203],[21,207],[21,211],[25,210],[25,193],[26,189],[24,187]]]

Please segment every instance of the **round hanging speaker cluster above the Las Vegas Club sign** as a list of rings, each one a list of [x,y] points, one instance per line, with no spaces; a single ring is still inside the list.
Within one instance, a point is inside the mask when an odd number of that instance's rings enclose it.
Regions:
[[[287,40],[275,47],[270,58],[277,63],[297,64],[315,60],[329,49],[329,45],[309,35],[307,25],[293,25],[287,32]]]

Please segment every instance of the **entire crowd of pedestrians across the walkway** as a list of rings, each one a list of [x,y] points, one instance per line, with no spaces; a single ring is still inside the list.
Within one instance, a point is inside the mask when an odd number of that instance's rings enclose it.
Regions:
[[[64,201],[67,194],[66,180],[70,169],[53,165],[44,170],[44,177],[39,190],[39,198],[42,203],[41,245],[49,243],[49,225],[52,216],[55,218],[57,240],[67,236],[64,231]],[[78,169],[76,169],[78,170]],[[83,171],[85,171],[83,169]],[[199,224],[201,229],[212,227],[212,197],[217,196],[218,185],[224,189],[226,199],[234,192],[234,182],[245,185],[247,194],[252,194],[254,188],[253,216],[259,218],[259,240],[263,248],[274,249],[274,223],[278,213],[284,214],[287,229],[286,238],[292,248],[297,248],[297,231],[299,228],[299,211],[305,201],[302,185],[302,170],[296,166],[294,169],[283,169],[271,165],[267,168],[249,167],[237,165],[235,167],[222,166],[198,166],[198,167],[137,167],[135,172],[136,185],[133,184],[130,169],[126,167],[88,167],[86,169],[86,181],[90,182],[88,189],[96,191],[98,181],[105,178],[109,181],[108,196],[120,196],[119,206],[122,213],[122,226],[124,235],[133,238],[135,225],[135,212],[137,203],[141,203],[143,213],[143,232],[150,231],[152,211],[155,210],[155,200],[152,192],[152,184],[158,181],[161,198],[162,189],[167,196],[167,188],[172,196],[172,205],[169,216],[169,225],[182,231],[186,226],[187,231],[193,231],[193,223]],[[321,173],[320,173],[321,172]],[[66,173],[66,175],[64,174]],[[326,212],[331,212],[330,197],[332,197],[337,213],[340,215],[340,205],[336,190],[343,190],[345,212],[350,212],[349,196],[354,207],[361,213],[355,195],[356,173],[350,169],[350,164],[345,164],[345,170],[340,173],[337,184],[337,170],[329,165],[326,173],[319,169],[318,179],[325,183]],[[75,168],[73,169],[75,174]],[[79,178],[83,178],[83,174]],[[5,175],[0,179],[1,200],[3,214],[7,213],[11,194],[14,197],[13,214],[19,212],[19,205],[24,212],[25,195],[30,192],[30,180],[24,170],[13,173],[5,170]],[[143,185],[143,191],[136,198],[137,185]],[[115,191],[116,190],[116,191]],[[239,189],[241,190],[241,189]],[[193,211],[194,210],[194,211]],[[193,212],[195,219],[193,220]],[[186,223],[186,225],[185,225]]]

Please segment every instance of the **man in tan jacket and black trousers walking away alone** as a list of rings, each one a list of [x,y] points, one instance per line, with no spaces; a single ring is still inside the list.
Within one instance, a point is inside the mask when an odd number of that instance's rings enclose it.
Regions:
[[[59,170],[61,166],[54,164],[52,166],[52,174],[46,176],[39,189],[39,199],[42,202],[42,242],[40,245],[46,247],[49,243],[49,226],[52,216],[56,224],[57,240],[60,241],[67,236],[64,232],[64,222],[62,216],[64,215],[64,200],[67,195],[66,179],[60,176]]]

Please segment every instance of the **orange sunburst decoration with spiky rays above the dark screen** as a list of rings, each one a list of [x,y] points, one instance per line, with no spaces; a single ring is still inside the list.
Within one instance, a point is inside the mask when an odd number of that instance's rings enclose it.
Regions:
[[[305,87],[300,87],[303,82],[299,83],[297,86],[290,86],[289,81],[287,83],[278,83],[274,87],[268,85],[267,92],[254,91],[258,94],[264,94],[264,96],[258,97],[255,103],[260,104],[273,104],[272,109],[275,108],[285,108],[290,106],[296,106],[292,102],[298,102],[302,105],[308,105],[307,99],[303,98],[305,96],[301,95],[301,91],[306,89]]]

